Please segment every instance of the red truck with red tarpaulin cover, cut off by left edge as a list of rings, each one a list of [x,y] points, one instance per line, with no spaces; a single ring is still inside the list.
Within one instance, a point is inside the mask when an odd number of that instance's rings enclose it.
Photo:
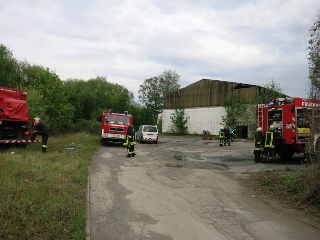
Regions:
[[[32,132],[28,125],[34,123],[29,120],[26,96],[23,90],[0,87],[0,145],[15,144],[25,147],[31,141]]]

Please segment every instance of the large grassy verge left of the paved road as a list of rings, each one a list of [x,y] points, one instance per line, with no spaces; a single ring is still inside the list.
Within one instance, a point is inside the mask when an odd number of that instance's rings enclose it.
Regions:
[[[45,154],[41,143],[1,149],[0,239],[85,239],[88,165],[99,147],[97,135],[79,133],[50,136]]]

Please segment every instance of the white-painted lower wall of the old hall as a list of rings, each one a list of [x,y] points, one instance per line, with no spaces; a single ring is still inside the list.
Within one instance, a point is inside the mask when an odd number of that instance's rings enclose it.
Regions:
[[[162,132],[171,133],[171,118],[175,113],[174,109],[164,109],[162,115]],[[226,116],[225,108],[207,107],[207,108],[186,108],[184,114],[188,122],[188,133],[202,134],[203,130],[209,130],[213,135],[219,135],[221,128],[221,116]],[[159,117],[161,117],[159,115]],[[223,126],[225,124],[223,123]]]

